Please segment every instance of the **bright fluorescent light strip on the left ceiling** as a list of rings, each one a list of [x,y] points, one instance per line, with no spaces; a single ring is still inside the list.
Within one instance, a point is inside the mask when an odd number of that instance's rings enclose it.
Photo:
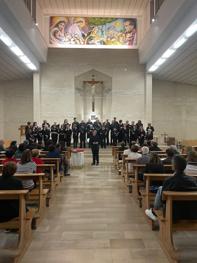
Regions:
[[[6,33],[0,28],[0,39],[7,45],[13,52],[16,54],[26,65],[28,68],[32,70],[38,70],[33,63],[28,59],[27,56],[23,54],[18,46],[6,35]]]

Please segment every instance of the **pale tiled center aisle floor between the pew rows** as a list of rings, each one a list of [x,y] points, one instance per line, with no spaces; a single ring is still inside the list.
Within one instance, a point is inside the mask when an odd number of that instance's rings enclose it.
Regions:
[[[131,194],[115,171],[112,149],[100,149],[99,166],[65,177],[23,263],[169,263]],[[69,171],[70,172],[70,171]]]

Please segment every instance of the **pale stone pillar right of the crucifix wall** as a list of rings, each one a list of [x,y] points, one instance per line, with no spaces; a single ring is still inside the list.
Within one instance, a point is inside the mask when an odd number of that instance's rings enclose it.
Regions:
[[[145,123],[144,129],[147,127],[147,123],[152,123],[152,73],[146,73],[145,71]],[[154,123],[153,123],[154,126]]]

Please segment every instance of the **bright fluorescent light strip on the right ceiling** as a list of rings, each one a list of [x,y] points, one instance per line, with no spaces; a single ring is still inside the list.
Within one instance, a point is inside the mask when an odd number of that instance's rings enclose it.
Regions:
[[[166,50],[166,52],[155,62],[154,65],[148,69],[148,72],[155,71],[168,57],[170,57],[189,37],[191,37],[197,31],[197,19],[191,24],[187,30],[172,44],[172,46]]]

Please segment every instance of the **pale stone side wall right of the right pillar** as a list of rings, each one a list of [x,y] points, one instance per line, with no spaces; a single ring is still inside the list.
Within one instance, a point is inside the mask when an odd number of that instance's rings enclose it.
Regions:
[[[152,124],[157,135],[163,131],[176,139],[196,139],[196,86],[153,80]],[[156,135],[156,134],[155,134]]]

